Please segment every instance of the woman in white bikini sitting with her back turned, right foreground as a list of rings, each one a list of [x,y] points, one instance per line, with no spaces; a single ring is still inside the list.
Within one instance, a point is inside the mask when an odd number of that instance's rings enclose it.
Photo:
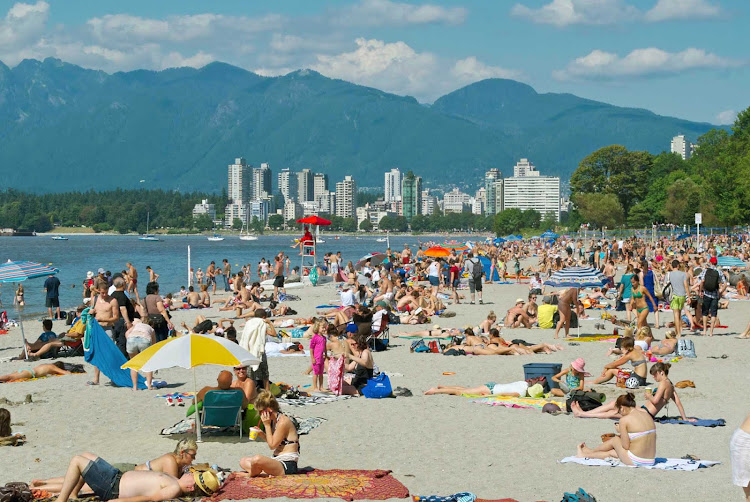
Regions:
[[[622,416],[615,424],[619,436],[605,441],[596,448],[586,443],[578,445],[577,457],[618,458],[625,465],[653,466],[656,458],[656,424],[643,408],[636,408],[635,396],[628,392],[617,398],[617,411]]]

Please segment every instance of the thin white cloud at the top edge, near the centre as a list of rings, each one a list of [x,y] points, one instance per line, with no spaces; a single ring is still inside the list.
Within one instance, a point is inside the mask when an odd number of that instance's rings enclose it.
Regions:
[[[409,24],[461,24],[467,11],[463,7],[412,5],[390,0],[362,0],[336,16],[337,22],[347,25],[382,26]]]

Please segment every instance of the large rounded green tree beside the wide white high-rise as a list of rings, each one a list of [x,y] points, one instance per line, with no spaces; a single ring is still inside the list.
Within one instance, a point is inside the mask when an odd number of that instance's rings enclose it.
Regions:
[[[648,175],[653,157],[648,152],[630,152],[624,146],[600,148],[585,159],[570,178],[572,195],[613,194],[625,213],[648,193]]]

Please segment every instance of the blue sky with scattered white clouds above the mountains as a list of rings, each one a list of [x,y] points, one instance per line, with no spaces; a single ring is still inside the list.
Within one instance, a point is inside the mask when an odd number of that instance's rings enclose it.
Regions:
[[[750,0],[0,0],[0,61],[311,68],[432,103],[486,78],[713,124],[750,106]]]

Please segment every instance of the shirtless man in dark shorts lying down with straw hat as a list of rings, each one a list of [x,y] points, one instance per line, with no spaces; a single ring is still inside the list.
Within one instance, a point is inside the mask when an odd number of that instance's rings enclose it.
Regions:
[[[100,500],[132,502],[159,502],[182,495],[202,497],[219,489],[219,479],[211,471],[187,473],[180,478],[165,472],[121,472],[101,457],[83,453],[70,461],[56,502],[67,502],[71,495],[77,498],[84,483]]]

